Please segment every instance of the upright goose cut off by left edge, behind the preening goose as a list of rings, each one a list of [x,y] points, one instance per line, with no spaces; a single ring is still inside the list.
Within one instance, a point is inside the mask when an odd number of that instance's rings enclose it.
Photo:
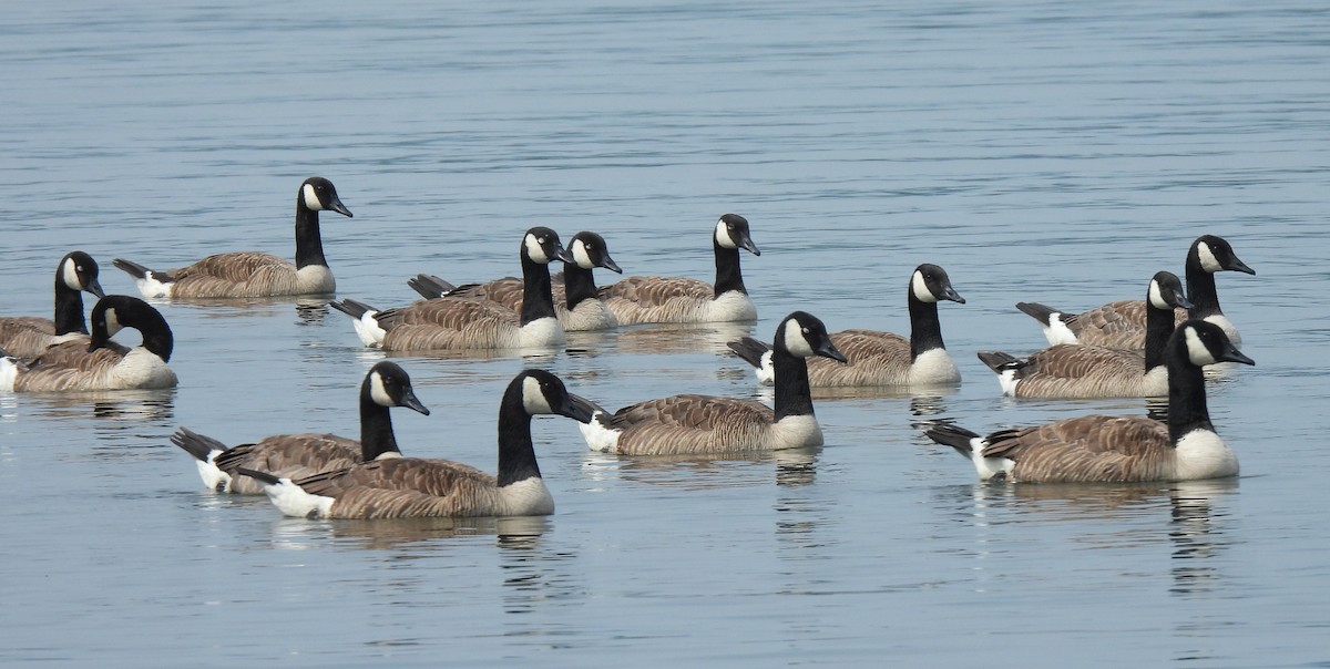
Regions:
[[[56,266],[56,315],[0,318],[0,350],[15,358],[36,358],[52,344],[84,339],[82,291],[106,297],[97,282],[97,261],[84,251],[70,251]]]

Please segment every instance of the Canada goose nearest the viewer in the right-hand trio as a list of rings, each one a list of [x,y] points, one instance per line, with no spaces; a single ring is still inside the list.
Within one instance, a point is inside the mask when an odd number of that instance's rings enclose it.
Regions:
[[[1166,355],[1166,424],[1148,416],[1092,415],[988,436],[955,426],[934,427],[926,434],[974,462],[983,480],[1125,483],[1236,476],[1237,456],[1210,423],[1201,367],[1254,363],[1233,346],[1224,329],[1198,319],[1178,326]]]

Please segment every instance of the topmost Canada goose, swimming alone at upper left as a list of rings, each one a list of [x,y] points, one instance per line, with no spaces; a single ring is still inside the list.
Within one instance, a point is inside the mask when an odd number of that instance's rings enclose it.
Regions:
[[[332,182],[310,177],[295,194],[295,265],[261,251],[218,253],[188,267],[149,270],[124,258],[112,261],[138,283],[145,298],[258,298],[332,293],[336,281],[323,257],[319,211],[351,217]]]

